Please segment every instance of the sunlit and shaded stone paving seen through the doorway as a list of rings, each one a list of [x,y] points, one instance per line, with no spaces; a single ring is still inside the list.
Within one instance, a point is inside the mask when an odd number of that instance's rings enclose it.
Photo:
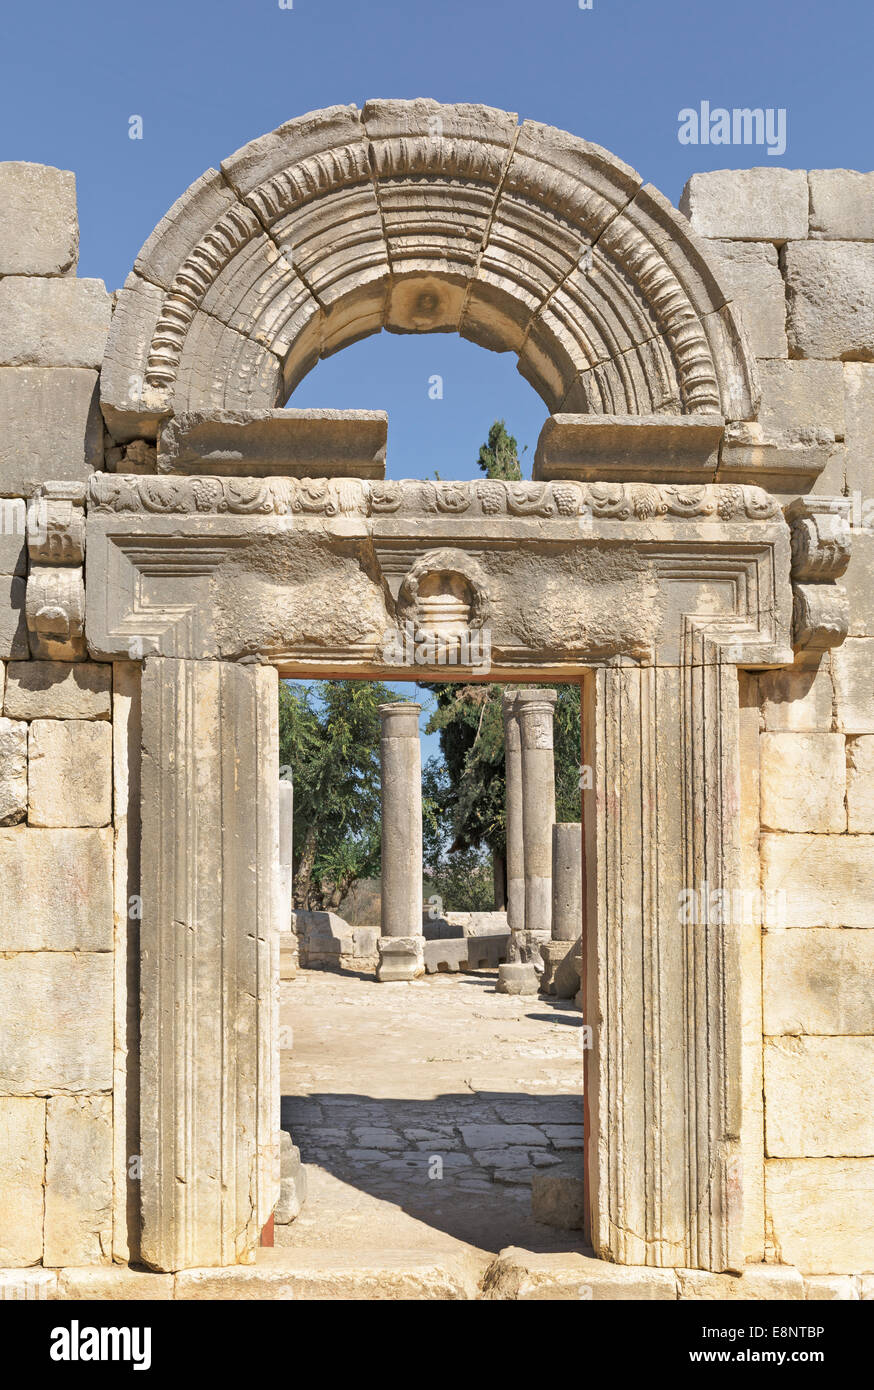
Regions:
[[[302,970],[282,984],[282,1126],[308,1200],[278,1245],[584,1248],[531,1216],[532,1172],[582,1172],[582,1017],[496,994],[495,979]]]

